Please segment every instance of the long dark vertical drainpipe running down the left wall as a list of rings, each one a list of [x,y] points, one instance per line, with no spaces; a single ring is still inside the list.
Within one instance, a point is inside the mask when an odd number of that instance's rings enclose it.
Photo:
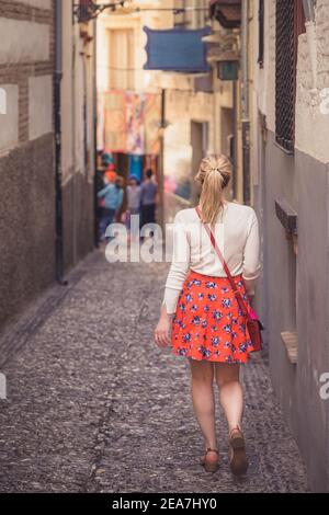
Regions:
[[[64,248],[63,248],[63,192],[61,192],[61,105],[60,88],[63,78],[63,0],[55,2],[55,77],[54,77],[54,123],[55,123],[55,191],[56,191],[56,279],[64,282]]]

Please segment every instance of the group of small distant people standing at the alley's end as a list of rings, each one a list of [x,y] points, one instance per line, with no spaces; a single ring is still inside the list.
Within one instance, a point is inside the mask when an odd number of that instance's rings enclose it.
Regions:
[[[156,222],[158,186],[151,169],[146,170],[141,184],[137,176],[131,175],[128,178],[124,213],[122,213],[125,199],[124,179],[115,172],[113,162],[101,173],[98,182],[98,218],[101,241],[107,239],[106,229],[115,221],[125,221],[131,230],[133,215],[139,216],[138,232],[146,224]]]

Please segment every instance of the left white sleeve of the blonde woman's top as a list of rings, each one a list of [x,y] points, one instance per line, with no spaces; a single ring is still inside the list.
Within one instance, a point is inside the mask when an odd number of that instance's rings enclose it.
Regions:
[[[172,262],[166,282],[164,298],[162,302],[162,306],[166,306],[168,314],[175,312],[178,298],[190,268],[190,243],[186,236],[185,225],[180,218],[180,213],[178,213],[174,218],[172,237]]]

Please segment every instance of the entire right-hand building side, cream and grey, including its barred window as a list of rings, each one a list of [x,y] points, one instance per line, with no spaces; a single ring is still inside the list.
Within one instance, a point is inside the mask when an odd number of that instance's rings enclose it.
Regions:
[[[248,3],[251,168],[261,220],[258,309],[275,392],[306,461],[329,490],[329,1]]]

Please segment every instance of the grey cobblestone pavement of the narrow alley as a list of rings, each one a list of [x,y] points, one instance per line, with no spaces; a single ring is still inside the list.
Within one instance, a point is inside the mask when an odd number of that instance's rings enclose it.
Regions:
[[[167,271],[97,251],[2,335],[1,492],[307,491],[259,358],[243,369],[248,476],[228,471],[219,407],[220,469],[197,464],[188,363],[152,341]]]

